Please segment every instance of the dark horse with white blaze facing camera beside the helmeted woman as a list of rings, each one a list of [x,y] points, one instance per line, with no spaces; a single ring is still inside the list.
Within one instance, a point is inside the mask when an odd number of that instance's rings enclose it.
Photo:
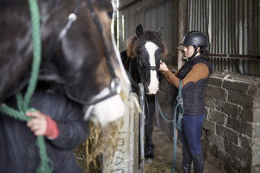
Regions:
[[[160,55],[167,52],[166,45],[161,36],[163,26],[157,32],[143,30],[142,24],[137,25],[136,34],[127,40],[127,49],[120,56],[128,77],[132,84],[133,92],[137,92],[139,83],[145,89],[145,157],[147,162],[154,158],[152,144],[153,115],[155,113],[155,94],[159,90],[162,75],[159,73]],[[131,68],[131,70],[130,70]]]

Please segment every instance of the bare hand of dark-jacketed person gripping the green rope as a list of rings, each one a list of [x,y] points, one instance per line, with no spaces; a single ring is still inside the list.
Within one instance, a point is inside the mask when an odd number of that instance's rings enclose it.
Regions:
[[[26,112],[26,116],[32,117],[27,122],[27,127],[31,129],[35,136],[44,135],[47,130],[47,119],[46,116],[40,111],[28,111]]]

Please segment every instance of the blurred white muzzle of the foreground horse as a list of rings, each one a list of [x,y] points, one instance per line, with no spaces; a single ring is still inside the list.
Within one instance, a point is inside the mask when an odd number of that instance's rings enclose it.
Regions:
[[[108,95],[109,92],[110,90],[108,88],[105,88],[101,91],[100,94],[95,96],[95,99],[102,98]],[[125,113],[124,102],[121,99],[120,95],[117,94],[113,97],[110,97],[106,100],[103,100],[93,105],[92,114],[94,114],[94,116],[91,118],[91,121],[93,121],[94,123],[100,123],[101,126],[105,126],[107,123],[112,122],[120,118],[121,116],[123,116],[124,113]],[[85,116],[88,115],[86,114]]]

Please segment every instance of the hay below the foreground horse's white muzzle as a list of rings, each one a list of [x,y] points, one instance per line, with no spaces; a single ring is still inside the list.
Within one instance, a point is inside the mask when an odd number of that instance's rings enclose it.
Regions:
[[[76,161],[84,173],[101,172],[101,155],[110,156],[118,145],[119,121],[101,128],[89,123],[90,136],[86,142],[74,149]]]

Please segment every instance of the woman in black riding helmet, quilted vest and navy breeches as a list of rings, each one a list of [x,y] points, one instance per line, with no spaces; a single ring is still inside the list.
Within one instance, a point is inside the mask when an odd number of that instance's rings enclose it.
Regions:
[[[188,61],[175,73],[171,73],[164,62],[161,62],[159,70],[165,80],[176,88],[179,88],[179,79],[182,79],[183,131],[178,130],[183,147],[182,172],[190,172],[193,162],[194,173],[203,173],[201,125],[205,117],[205,88],[212,73],[212,65],[206,58],[207,38],[202,32],[188,32],[180,45],[185,46],[184,54]]]

